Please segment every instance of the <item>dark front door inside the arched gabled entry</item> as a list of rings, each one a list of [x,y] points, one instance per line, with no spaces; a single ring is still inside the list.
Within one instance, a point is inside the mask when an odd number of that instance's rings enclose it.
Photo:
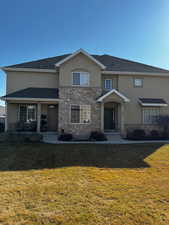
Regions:
[[[104,108],[104,130],[114,130],[116,128],[115,108]]]

